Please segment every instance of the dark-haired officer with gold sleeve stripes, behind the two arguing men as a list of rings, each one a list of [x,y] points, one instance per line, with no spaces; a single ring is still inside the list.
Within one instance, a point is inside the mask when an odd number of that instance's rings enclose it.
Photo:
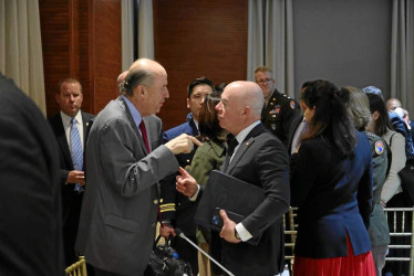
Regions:
[[[204,99],[213,92],[213,82],[207,77],[198,77],[189,84],[187,91],[187,108],[190,110],[190,114],[188,114],[186,123],[164,132],[164,142],[167,142],[182,134],[190,136],[199,135],[198,115]],[[194,147],[192,152],[176,156],[180,167],[188,170],[196,149],[197,147]],[[197,243],[196,224],[194,222],[196,203],[189,201],[187,197],[176,191],[175,174],[166,178],[163,182],[166,183],[161,185],[162,202],[159,211],[163,225],[159,229],[159,233],[166,237],[174,233],[175,227],[178,227],[186,236]],[[190,263],[193,273],[197,275],[197,251],[178,236],[173,238],[172,246],[178,252],[183,259]]]

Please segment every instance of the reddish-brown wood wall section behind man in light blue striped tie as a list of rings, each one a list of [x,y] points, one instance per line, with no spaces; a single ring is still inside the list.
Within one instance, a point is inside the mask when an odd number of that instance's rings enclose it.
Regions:
[[[97,114],[116,97],[121,73],[121,0],[39,0],[48,116],[62,78],[83,86],[82,109]]]

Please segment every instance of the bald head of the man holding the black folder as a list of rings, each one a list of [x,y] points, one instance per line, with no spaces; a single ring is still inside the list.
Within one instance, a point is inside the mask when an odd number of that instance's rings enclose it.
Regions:
[[[226,86],[216,106],[221,128],[232,135],[260,119],[265,104],[261,88],[252,82],[238,81]]]

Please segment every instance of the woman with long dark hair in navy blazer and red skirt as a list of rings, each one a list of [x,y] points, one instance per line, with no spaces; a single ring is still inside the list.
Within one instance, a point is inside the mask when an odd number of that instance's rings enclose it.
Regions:
[[[308,131],[291,156],[296,275],[375,275],[368,234],[371,149],[346,112],[348,97],[327,81],[302,93]]]

